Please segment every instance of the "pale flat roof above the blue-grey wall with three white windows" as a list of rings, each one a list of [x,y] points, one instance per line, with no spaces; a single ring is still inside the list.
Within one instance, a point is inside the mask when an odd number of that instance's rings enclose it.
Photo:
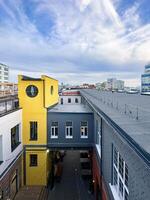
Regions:
[[[57,104],[55,107],[48,110],[55,113],[92,113],[89,107],[83,104]]]

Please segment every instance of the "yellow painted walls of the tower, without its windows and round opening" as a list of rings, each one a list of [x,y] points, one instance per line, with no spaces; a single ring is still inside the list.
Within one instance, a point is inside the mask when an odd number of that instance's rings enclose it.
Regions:
[[[38,151],[30,146],[30,151],[26,151],[26,184],[27,185],[46,185],[50,169],[50,160],[47,151],[43,151],[41,145],[47,145],[47,108],[58,103],[58,81],[42,76],[39,80],[22,80],[18,77],[18,97],[22,108],[22,138],[23,145],[36,145]],[[38,88],[36,97],[28,97],[26,88],[29,85],[35,85]],[[53,85],[53,94],[51,86]],[[30,121],[38,122],[38,140],[30,140]],[[38,166],[30,167],[30,154],[38,155]]]

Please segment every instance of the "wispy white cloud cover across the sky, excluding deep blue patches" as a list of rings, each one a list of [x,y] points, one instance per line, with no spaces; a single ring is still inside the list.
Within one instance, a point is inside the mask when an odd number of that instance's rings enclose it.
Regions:
[[[54,22],[48,36],[41,35],[28,18],[21,0],[10,1],[9,6],[0,1],[12,22],[0,26],[1,62],[46,73],[92,74],[95,70],[103,79],[100,71],[108,70],[105,65],[110,71],[115,66],[116,72],[134,71],[137,66],[141,72],[139,66],[150,60],[150,24],[142,25],[139,4],[119,16],[119,0],[32,1],[35,18],[46,14]]]

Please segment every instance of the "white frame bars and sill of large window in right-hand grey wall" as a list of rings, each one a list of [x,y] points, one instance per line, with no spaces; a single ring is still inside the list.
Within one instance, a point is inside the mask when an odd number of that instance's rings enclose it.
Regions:
[[[115,164],[115,159],[114,159],[114,152],[117,152],[117,166]],[[129,189],[128,186],[126,186],[125,184],[125,166],[127,166],[127,164],[125,163],[124,159],[123,160],[123,177],[121,176],[121,173],[119,172],[119,155],[122,158],[121,154],[118,152],[118,150],[113,147],[113,184],[110,185],[112,193],[114,195],[115,199],[120,199],[120,200],[125,200],[125,191],[126,193],[129,195]],[[115,185],[114,183],[114,170],[117,172],[117,184]],[[123,195],[121,194],[120,190],[119,190],[119,180],[122,183],[123,186]]]

